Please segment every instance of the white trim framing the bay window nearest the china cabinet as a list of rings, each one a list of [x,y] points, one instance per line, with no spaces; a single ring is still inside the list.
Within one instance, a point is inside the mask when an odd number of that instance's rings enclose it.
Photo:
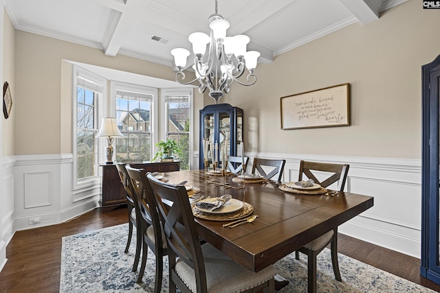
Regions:
[[[192,89],[162,89],[160,95],[160,117],[165,121],[166,117],[166,106],[165,106],[165,97],[167,95],[189,95],[190,100],[190,169],[192,167],[192,156],[194,152],[194,97]],[[161,123],[160,128],[160,140],[166,139],[166,123]],[[157,148],[155,146],[155,152],[157,152]],[[197,168],[199,169],[199,168]]]

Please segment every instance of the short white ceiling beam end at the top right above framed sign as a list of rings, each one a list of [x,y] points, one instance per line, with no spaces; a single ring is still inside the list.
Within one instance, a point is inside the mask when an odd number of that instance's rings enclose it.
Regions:
[[[379,19],[382,0],[339,0],[364,25]]]

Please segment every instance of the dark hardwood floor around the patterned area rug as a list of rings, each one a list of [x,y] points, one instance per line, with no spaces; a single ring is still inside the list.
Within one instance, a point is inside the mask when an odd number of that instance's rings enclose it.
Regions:
[[[6,250],[0,273],[1,292],[58,292],[61,237],[127,222],[126,209],[95,209],[63,224],[17,231]],[[132,244],[133,245],[133,244]],[[339,235],[338,250],[399,277],[440,292],[440,285],[420,277],[420,260],[358,239]]]

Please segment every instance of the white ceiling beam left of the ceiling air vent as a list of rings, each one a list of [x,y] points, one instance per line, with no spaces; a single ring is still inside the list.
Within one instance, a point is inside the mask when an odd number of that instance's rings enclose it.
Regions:
[[[97,0],[95,0],[97,1]],[[137,21],[146,0],[126,0],[122,10],[113,10],[107,30],[102,38],[102,47],[107,56],[116,56],[133,23]]]

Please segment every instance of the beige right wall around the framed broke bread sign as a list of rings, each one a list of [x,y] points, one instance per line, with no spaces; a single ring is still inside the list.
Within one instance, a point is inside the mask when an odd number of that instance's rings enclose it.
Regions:
[[[221,102],[243,108],[245,150],[421,158],[421,66],[440,54],[440,14],[410,0],[256,69]],[[292,28],[294,29],[294,28]],[[351,126],[281,130],[280,97],[349,82]]]

